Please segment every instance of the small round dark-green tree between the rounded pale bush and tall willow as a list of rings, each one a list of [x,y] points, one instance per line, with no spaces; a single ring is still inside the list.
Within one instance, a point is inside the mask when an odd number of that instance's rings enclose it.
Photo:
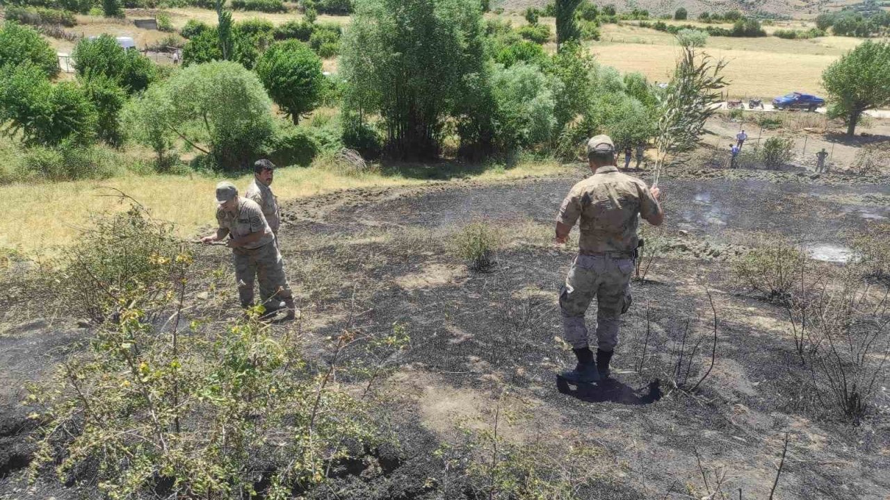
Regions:
[[[263,52],[255,70],[272,100],[294,124],[318,105],[325,85],[321,60],[302,42],[273,44]]]

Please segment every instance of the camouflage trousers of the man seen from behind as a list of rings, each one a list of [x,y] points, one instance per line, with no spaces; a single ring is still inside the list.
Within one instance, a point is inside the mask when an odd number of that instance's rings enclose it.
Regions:
[[[618,345],[620,316],[630,307],[634,260],[608,255],[578,255],[559,296],[562,329],[574,349],[587,347],[584,315],[596,298],[596,341],[603,351]]]

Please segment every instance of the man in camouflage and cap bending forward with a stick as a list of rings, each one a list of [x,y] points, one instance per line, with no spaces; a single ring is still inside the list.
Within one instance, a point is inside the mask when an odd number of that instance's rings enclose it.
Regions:
[[[294,299],[287,284],[284,262],[260,206],[253,200],[239,197],[238,189],[231,182],[216,185],[216,201],[219,203],[216,210],[219,229],[201,241],[212,243],[230,237],[227,246],[231,248],[235,263],[241,307],[254,304],[254,280],[259,278],[260,298],[266,310],[272,312],[287,307],[286,319],[294,319]]]

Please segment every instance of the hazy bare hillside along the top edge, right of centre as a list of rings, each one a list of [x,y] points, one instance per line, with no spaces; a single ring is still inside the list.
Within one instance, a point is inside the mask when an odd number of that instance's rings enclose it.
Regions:
[[[506,12],[521,12],[527,7],[543,7],[549,0],[502,0],[492,2],[492,6],[503,7]],[[690,19],[695,19],[701,12],[724,12],[740,10],[741,12],[769,12],[797,19],[815,17],[821,10],[837,10],[842,5],[858,4],[851,0],[594,0],[595,4],[614,4],[619,11],[629,11],[634,7],[646,9],[652,15],[673,14],[676,9],[684,7]]]

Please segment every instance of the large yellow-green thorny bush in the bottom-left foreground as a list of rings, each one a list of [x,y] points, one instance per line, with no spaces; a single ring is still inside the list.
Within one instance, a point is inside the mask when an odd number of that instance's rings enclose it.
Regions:
[[[328,338],[332,354],[320,364],[303,357],[299,330],[272,335],[257,320],[261,307],[234,325],[184,327],[189,263],[180,255],[166,265],[181,277],[166,294],[166,322],[149,320],[164,305],[150,289],[132,290],[117,323],[30,388],[30,416],[42,423],[32,478],[55,465],[60,480],[97,484],[111,499],[284,499],[390,440],[366,396],[407,345],[403,327],[381,338],[347,328]],[[360,395],[335,376],[353,345],[373,354],[347,368],[347,378],[367,380]]]

